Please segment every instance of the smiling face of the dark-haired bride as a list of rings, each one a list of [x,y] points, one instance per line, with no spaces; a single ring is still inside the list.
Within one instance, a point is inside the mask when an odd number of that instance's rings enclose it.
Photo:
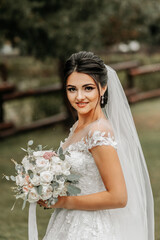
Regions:
[[[99,93],[94,80],[85,73],[73,72],[67,79],[67,97],[79,114],[88,114],[99,107]],[[100,95],[105,89],[100,87]],[[97,104],[98,102],[98,104]]]

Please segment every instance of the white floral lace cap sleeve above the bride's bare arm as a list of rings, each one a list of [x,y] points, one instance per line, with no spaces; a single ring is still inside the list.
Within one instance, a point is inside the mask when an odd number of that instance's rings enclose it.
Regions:
[[[94,131],[93,133],[89,131],[88,137],[87,137],[87,147],[88,149],[91,149],[96,146],[112,146],[115,149],[117,149],[117,142],[114,139],[114,136],[111,136],[111,133],[108,132],[106,135],[106,132],[101,131]]]

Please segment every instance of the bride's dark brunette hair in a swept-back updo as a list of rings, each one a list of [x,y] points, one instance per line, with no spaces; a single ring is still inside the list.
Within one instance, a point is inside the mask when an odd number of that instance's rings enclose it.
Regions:
[[[100,89],[99,83],[101,87],[107,85],[107,69],[104,65],[104,62],[96,56],[92,52],[81,51],[78,53],[74,53],[68,58],[64,67],[64,80],[65,86],[66,81],[69,75],[73,72],[85,73],[88,74],[96,83],[98,88],[99,97]],[[104,101],[103,104],[100,101],[101,108],[103,108],[107,104],[108,100],[108,88],[104,93]]]

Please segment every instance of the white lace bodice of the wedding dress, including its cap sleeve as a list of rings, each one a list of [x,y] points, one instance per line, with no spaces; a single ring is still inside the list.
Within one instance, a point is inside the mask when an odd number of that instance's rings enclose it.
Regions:
[[[73,130],[74,127],[70,129],[68,138],[72,138]],[[99,130],[97,127],[94,130],[89,128],[84,137],[64,149],[64,151],[70,153],[70,156],[67,156],[67,160],[72,166],[72,171],[81,176],[77,185],[81,189],[80,195],[106,190],[94,158],[89,151],[93,147],[102,145],[117,147],[112,132],[107,129],[103,130]],[[61,142],[61,147],[68,141],[68,138]]]

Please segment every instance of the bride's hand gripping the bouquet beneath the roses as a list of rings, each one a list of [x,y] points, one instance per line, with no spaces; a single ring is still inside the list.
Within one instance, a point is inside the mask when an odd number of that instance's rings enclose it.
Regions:
[[[47,201],[43,201],[42,199],[40,199],[37,204],[39,204],[40,206],[43,206],[45,209],[48,208],[67,208],[67,196],[58,196],[58,201],[54,204],[51,205],[50,207],[48,207],[47,205]]]

